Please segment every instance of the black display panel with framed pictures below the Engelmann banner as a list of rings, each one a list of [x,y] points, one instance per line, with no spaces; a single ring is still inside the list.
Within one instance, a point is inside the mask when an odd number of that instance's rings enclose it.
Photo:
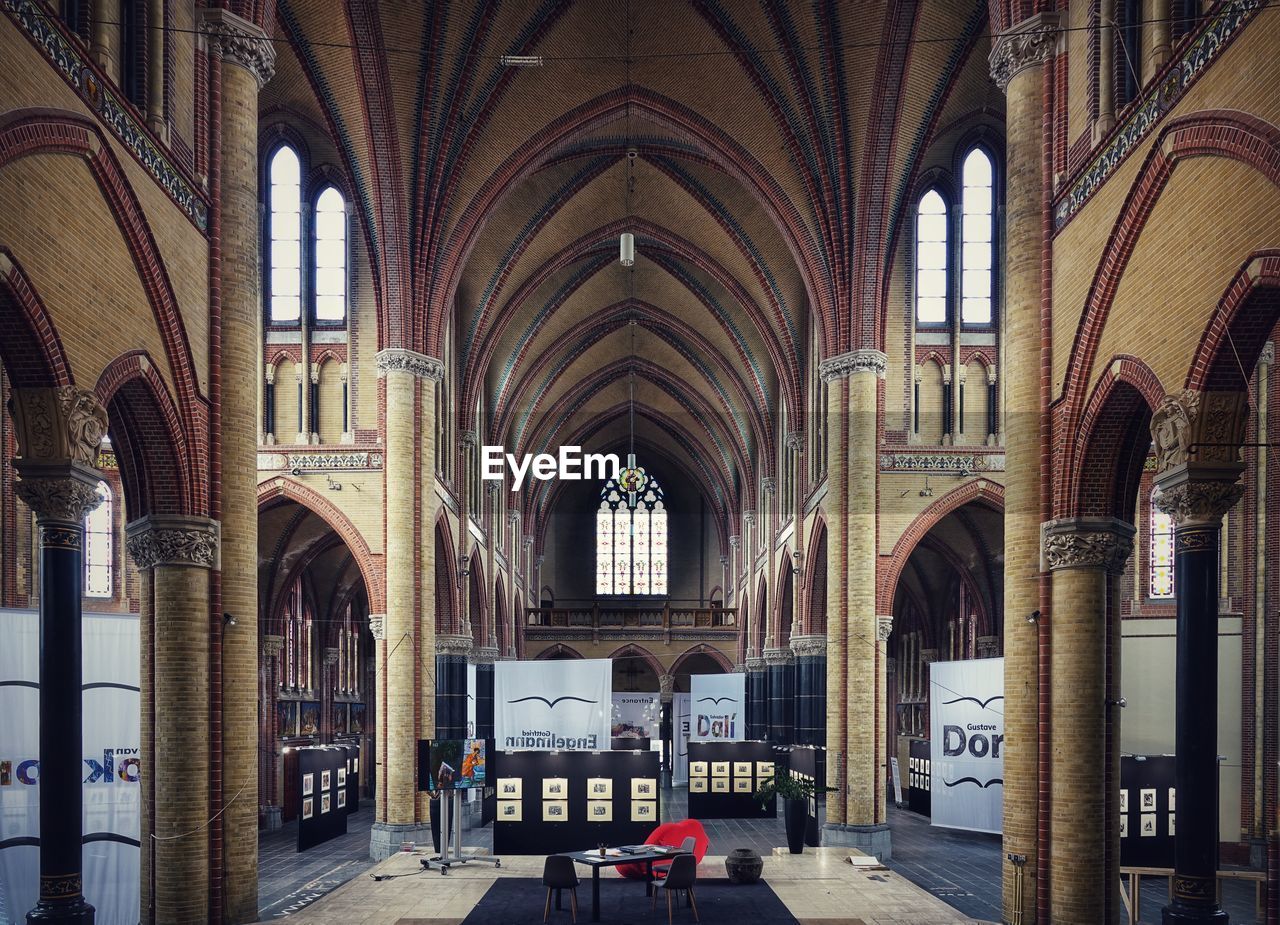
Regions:
[[[495,855],[641,844],[662,821],[655,751],[492,754]]]

